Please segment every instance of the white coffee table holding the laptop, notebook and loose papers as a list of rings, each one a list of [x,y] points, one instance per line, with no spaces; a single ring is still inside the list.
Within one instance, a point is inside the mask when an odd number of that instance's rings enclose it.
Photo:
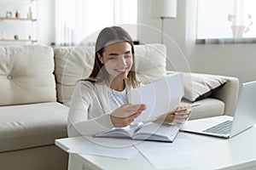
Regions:
[[[202,151],[204,156],[212,161],[212,164],[211,167],[208,167],[207,165],[188,167],[186,162],[184,162],[184,167],[179,167],[178,169],[256,169],[255,126],[231,139],[219,139],[193,133],[178,133],[177,139],[174,142],[178,142],[179,139],[189,141],[191,149],[196,148],[197,150]],[[84,140],[86,140],[84,137],[56,139],[55,144],[62,150],[67,151],[77,144],[83,143]],[[166,156],[168,156],[168,153],[166,153]],[[180,159],[183,159],[183,156],[180,156]],[[199,157],[199,159],[201,158]],[[155,167],[140,152],[128,160],[73,153],[69,155],[68,169],[153,170]],[[167,169],[173,169],[173,167],[168,167]]]

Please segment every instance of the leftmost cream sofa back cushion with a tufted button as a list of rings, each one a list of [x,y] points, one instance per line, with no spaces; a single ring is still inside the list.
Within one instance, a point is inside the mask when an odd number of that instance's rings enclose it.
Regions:
[[[56,100],[53,49],[44,45],[0,47],[0,105]]]

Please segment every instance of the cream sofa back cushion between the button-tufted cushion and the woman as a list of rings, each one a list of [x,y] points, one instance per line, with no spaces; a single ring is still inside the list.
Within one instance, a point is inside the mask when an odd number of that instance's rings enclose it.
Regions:
[[[55,48],[54,52],[58,101],[70,105],[76,82],[90,75],[94,65],[94,48],[61,47]]]

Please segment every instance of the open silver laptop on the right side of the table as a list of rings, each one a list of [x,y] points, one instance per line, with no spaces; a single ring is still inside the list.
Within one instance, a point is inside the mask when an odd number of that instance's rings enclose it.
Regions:
[[[225,139],[247,130],[256,123],[256,81],[245,82],[232,116],[214,116],[185,122],[181,131],[200,133]]]

